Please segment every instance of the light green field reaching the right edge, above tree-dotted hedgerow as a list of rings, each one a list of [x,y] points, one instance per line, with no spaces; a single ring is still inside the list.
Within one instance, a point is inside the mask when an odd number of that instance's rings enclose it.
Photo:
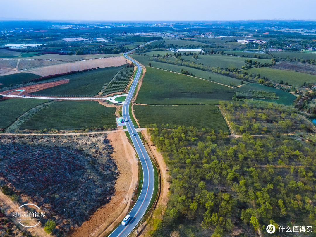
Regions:
[[[307,73],[302,72],[295,72],[295,71],[288,71],[288,70],[279,70],[279,69],[272,69],[272,68],[251,68],[246,70],[249,73],[252,74],[260,74],[261,77],[265,76],[268,77],[268,79],[272,82],[279,83],[280,80],[283,80],[283,82],[288,82],[289,85],[299,87],[304,82],[307,83],[315,83],[316,82],[316,76],[310,75]]]

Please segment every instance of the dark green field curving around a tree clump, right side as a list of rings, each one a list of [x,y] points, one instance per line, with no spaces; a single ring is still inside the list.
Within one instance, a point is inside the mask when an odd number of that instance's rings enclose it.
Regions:
[[[283,91],[279,90],[277,88],[273,87],[267,87],[264,85],[256,84],[256,83],[249,83],[247,85],[243,85],[239,88],[235,88],[235,91],[265,91],[265,92],[270,92],[270,93],[276,93],[276,95],[279,97],[277,100],[269,100],[269,99],[254,99],[254,100],[264,100],[264,101],[270,101],[270,102],[275,102],[278,104],[283,104],[283,105],[291,105],[293,103],[293,100],[295,100],[296,96]]]

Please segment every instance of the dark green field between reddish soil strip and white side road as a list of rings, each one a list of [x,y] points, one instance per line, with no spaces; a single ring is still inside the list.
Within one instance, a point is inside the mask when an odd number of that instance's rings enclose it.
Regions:
[[[125,67],[125,65],[106,67],[63,76],[62,79],[69,79],[68,83],[46,88],[31,94],[44,96],[94,96],[101,91],[104,85],[112,80],[119,70]]]

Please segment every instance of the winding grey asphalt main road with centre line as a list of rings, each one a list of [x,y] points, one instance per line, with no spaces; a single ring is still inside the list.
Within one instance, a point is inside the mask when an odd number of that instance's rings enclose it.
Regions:
[[[125,125],[127,127],[128,132],[131,134],[132,132],[135,133],[135,137],[131,136],[132,142],[134,144],[134,147],[136,149],[137,155],[139,157],[139,160],[141,162],[141,165],[143,167],[143,187],[141,189],[141,193],[137,199],[137,202],[135,203],[134,207],[130,211],[129,215],[131,216],[131,221],[128,223],[128,225],[123,226],[119,225],[110,235],[109,237],[125,237],[131,234],[133,229],[136,227],[138,222],[140,222],[149,206],[151,197],[153,196],[154,192],[154,183],[155,183],[155,174],[154,174],[154,167],[151,163],[151,160],[149,158],[149,155],[145,149],[145,146],[143,145],[140,137],[138,136],[133,123],[131,122],[131,117],[129,115],[128,109],[130,106],[131,99],[133,97],[134,91],[137,86],[138,79],[141,74],[141,66],[137,61],[127,56],[127,53],[124,54],[126,58],[131,60],[135,65],[137,65],[137,74],[135,76],[135,79],[131,85],[130,91],[127,95],[127,98],[125,99],[125,103],[122,108],[122,115],[123,118],[128,119],[128,122],[125,122]],[[139,190],[138,190],[139,191]]]

